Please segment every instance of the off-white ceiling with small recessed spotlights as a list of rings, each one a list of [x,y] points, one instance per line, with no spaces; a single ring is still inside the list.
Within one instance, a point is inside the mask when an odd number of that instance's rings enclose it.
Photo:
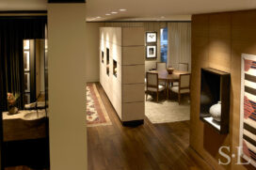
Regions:
[[[47,0],[0,0],[0,11],[46,8]],[[256,8],[256,0],[87,0],[87,8],[87,20],[92,22],[183,21],[191,14]],[[112,11],[118,13],[105,15]]]

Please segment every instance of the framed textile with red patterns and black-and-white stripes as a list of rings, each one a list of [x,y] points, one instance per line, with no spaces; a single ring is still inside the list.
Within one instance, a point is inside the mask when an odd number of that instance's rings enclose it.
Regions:
[[[242,54],[240,100],[239,156],[256,167],[256,55]]]

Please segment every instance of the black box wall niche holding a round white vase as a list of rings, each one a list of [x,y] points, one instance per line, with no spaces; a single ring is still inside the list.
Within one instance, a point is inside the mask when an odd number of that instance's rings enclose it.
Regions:
[[[200,73],[200,120],[220,134],[228,133],[231,74],[212,68]]]

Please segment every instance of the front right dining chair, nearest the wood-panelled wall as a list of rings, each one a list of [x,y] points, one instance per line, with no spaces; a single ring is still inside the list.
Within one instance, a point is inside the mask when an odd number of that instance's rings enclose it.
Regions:
[[[181,95],[190,94],[190,73],[180,74],[179,85],[170,86],[169,89],[178,94],[179,104],[181,104]]]

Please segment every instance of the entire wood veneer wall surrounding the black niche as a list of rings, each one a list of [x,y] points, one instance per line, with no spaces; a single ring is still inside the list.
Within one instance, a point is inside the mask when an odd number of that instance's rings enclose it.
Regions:
[[[236,165],[236,159],[232,159],[232,164],[228,166],[219,165],[217,160],[219,155],[217,153],[213,155],[211,153],[214,152],[213,150],[207,150],[204,142],[212,140],[215,144],[222,140],[219,145],[230,146],[231,153],[237,153],[235,147],[239,145],[240,132],[241,54],[256,54],[256,23],[254,21],[256,21],[256,10],[201,14],[192,17],[190,146],[215,169],[247,169],[243,165]],[[200,122],[199,77],[200,68],[204,67],[231,72],[230,134],[224,137],[206,135],[205,131],[210,131]]]

